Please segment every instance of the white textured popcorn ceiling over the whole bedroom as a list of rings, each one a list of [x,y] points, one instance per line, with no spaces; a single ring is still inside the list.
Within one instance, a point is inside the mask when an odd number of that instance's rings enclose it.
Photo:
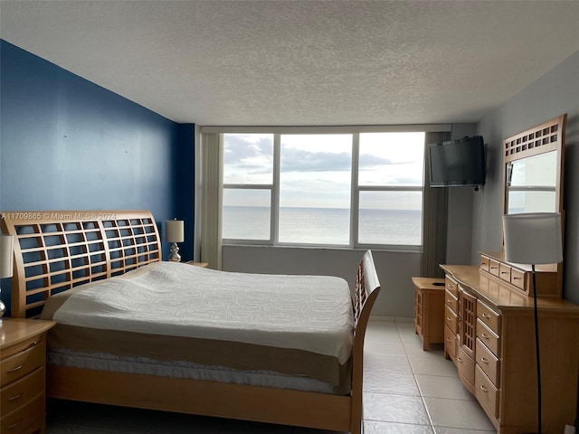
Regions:
[[[177,122],[476,122],[579,50],[579,1],[5,1],[0,36]]]

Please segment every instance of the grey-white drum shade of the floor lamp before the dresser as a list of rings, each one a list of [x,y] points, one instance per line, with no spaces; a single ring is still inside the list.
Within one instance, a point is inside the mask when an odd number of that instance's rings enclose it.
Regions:
[[[563,260],[561,214],[503,215],[505,260],[516,264],[555,264]]]

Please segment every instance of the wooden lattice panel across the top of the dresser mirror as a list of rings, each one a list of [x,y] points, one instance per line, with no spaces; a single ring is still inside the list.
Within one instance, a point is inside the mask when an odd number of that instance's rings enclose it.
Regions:
[[[566,119],[566,114],[561,115],[516,136],[506,138],[503,141],[505,163],[549,150],[555,151],[565,146]]]

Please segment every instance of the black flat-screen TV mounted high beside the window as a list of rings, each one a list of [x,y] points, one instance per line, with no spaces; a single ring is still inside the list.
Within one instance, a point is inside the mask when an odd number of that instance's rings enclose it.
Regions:
[[[431,187],[484,185],[487,175],[482,136],[428,146]]]

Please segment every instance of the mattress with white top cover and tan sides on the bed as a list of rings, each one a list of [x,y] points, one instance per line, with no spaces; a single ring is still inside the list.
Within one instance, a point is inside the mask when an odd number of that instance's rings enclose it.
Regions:
[[[353,316],[342,278],[156,262],[49,297],[49,349],[307,376],[349,387]]]

